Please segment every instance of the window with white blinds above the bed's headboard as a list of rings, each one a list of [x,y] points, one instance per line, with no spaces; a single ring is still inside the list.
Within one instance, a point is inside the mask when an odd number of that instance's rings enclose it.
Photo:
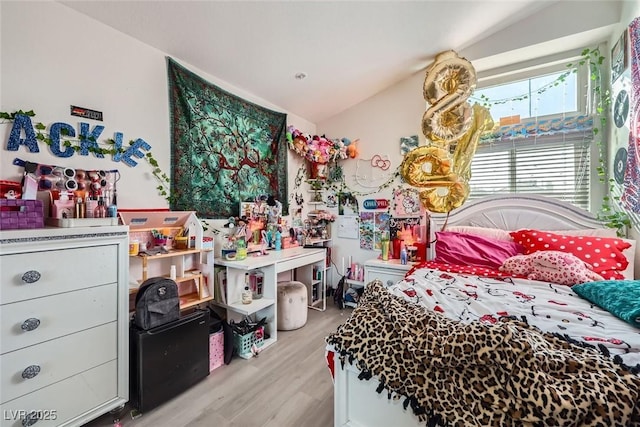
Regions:
[[[586,85],[580,73],[556,68],[476,89],[471,102],[488,99],[498,125],[501,118],[511,120],[481,139],[471,164],[470,199],[535,193],[589,209],[593,138],[591,122],[581,116]]]

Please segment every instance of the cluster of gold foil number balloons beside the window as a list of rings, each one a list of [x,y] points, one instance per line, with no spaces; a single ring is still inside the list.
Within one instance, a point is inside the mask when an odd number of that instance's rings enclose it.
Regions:
[[[407,153],[400,173],[408,184],[424,188],[420,200],[431,212],[446,213],[465,202],[478,140],[493,127],[486,108],[467,102],[475,85],[475,69],[454,51],[438,54],[427,67],[424,97],[431,105],[422,132],[430,144]]]

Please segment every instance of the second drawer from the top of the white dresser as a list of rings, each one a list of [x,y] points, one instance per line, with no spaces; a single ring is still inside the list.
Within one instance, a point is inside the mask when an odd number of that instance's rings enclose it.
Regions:
[[[0,305],[0,354],[113,322],[117,315],[115,283]]]

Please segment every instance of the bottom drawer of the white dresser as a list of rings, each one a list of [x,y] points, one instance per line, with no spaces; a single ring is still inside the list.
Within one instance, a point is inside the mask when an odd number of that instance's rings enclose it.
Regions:
[[[41,388],[33,393],[0,405],[2,427],[22,427],[22,417],[26,412],[39,411],[42,418],[35,427],[79,425],[80,414],[114,401],[117,398],[118,363],[113,360],[82,372],[63,381]],[[106,408],[104,412],[110,408]],[[46,419],[45,419],[46,418]]]

